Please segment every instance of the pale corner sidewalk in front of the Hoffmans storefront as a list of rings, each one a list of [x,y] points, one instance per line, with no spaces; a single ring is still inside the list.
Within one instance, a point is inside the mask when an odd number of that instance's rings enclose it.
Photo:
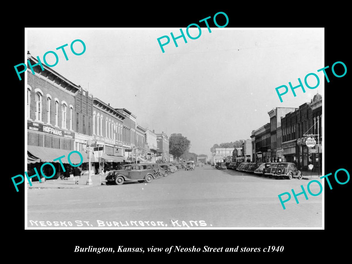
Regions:
[[[101,181],[105,184],[105,177],[106,175],[101,175]],[[88,188],[88,187],[96,187],[100,186],[100,176],[99,175],[92,175],[92,185],[86,185],[88,179],[88,175],[84,174],[81,178],[78,179],[78,184],[75,184],[74,178],[70,177],[68,180],[48,180],[44,182],[35,181],[32,182],[32,186],[29,185],[27,182],[28,189],[77,189],[77,188]]]

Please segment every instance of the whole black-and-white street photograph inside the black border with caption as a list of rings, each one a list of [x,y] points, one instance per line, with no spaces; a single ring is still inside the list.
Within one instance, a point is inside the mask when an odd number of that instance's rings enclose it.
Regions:
[[[321,30],[170,31],[28,31],[27,227],[321,227]]]

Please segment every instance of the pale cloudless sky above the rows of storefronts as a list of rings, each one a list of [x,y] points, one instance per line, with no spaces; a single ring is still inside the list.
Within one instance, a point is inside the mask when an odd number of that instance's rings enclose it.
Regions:
[[[250,138],[251,132],[268,123],[275,107],[298,107],[322,94],[323,73],[321,30],[234,30],[202,28],[198,39],[186,35],[172,41],[163,30],[28,30],[28,46],[33,57],[68,44],[68,61],[61,50],[52,67],[71,82],[89,89],[93,97],[126,108],[137,123],[155,132],[181,133],[191,141],[190,152],[207,154],[222,142]],[[183,29],[185,32],[186,30]],[[197,29],[189,31],[197,36]],[[157,38],[168,35],[163,53]],[[74,55],[70,44],[81,39],[86,51]],[[166,39],[161,40],[162,43]],[[82,45],[76,42],[79,53]],[[46,61],[55,62],[49,54]],[[316,89],[304,85],[304,77],[316,73]],[[301,88],[282,96],[275,88]],[[314,76],[308,84],[315,86]]]

